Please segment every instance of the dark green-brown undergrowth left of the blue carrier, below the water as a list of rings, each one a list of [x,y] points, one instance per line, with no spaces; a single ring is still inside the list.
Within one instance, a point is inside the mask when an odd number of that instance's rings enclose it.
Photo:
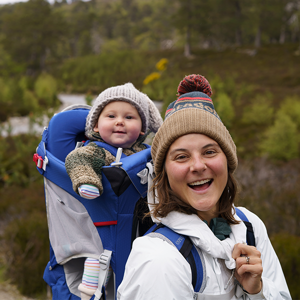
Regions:
[[[0,137],[0,267],[22,293],[44,298],[48,229],[43,180],[32,161],[39,140],[31,135]]]

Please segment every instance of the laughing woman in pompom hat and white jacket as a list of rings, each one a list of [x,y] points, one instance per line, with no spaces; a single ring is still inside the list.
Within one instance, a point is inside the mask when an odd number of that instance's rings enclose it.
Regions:
[[[177,248],[155,235],[135,239],[120,300],[290,299],[278,258],[262,221],[239,209],[253,226],[255,245],[235,213],[235,144],[214,110],[200,75],[178,87],[151,147],[155,178],[152,219],[187,235],[203,257],[203,284],[193,290],[191,268]],[[233,276],[234,274],[234,276]]]

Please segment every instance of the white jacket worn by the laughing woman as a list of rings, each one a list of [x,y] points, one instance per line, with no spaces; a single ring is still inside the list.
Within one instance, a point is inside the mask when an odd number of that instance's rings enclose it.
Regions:
[[[189,236],[193,244],[202,249],[206,283],[197,299],[291,299],[263,222],[246,208],[239,209],[252,223],[256,248],[261,252],[262,289],[255,295],[244,292],[234,276],[231,277],[235,268],[235,260],[231,257],[233,246],[246,241],[243,222],[230,225],[229,238],[220,241],[195,214],[172,211],[160,219],[172,230]],[[235,218],[240,220],[237,215]],[[228,287],[225,289],[226,284]],[[117,290],[117,299],[193,300],[193,296],[190,266],[173,245],[158,237],[142,236],[134,240],[123,281]]]

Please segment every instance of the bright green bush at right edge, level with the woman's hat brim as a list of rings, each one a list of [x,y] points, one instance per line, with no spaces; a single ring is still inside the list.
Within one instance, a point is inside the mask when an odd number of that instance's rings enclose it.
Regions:
[[[287,161],[298,157],[299,141],[296,123],[285,113],[278,112],[274,124],[263,134],[259,148],[271,159]]]

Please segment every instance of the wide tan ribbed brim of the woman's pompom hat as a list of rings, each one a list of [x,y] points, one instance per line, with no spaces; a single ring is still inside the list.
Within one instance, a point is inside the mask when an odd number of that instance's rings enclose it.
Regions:
[[[189,133],[202,133],[214,139],[227,157],[228,170],[234,172],[237,167],[236,147],[228,130],[212,113],[193,107],[172,113],[155,134],[151,146],[155,174],[160,172],[170,144]]]

